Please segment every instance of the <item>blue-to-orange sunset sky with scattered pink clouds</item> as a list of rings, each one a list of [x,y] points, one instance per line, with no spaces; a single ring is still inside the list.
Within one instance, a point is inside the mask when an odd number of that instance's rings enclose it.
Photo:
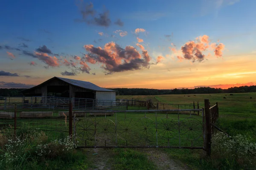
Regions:
[[[0,88],[256,85],[256,0],[3,0]]]

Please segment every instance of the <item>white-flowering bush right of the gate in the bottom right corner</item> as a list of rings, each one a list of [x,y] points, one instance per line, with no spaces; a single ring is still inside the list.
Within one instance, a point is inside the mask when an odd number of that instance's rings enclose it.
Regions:
[[[218,132],[212,136],[213,164],[217,167],[234,167],[255,169],[256,168],[256,143],[252,138],[242,135],[234,136],[233,139],[224,133]]]

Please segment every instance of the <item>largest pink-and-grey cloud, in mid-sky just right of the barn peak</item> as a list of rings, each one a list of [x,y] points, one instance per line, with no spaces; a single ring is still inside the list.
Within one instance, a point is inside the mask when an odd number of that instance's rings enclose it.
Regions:
[[[140,55],[133,46],[121,48],[115,42],[108,42],[104,48],[96,48],[93,45],[84,45],[84,48],[89,52],[85,55],[85,60],[91,64],[102,63],[101,67],[106,71],[106,74],[149,68],[149,61],[151,60],[148,51],[143,50],[142,55]]]

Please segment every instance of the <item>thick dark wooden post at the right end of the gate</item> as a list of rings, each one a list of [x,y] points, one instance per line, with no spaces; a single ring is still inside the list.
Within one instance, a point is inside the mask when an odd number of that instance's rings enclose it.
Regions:
[[[204,113],[205,113],[205,125],[206,125],[206,152],[207,155],[211,155],[211,121],[209,112],[209,99],[204,99]]]

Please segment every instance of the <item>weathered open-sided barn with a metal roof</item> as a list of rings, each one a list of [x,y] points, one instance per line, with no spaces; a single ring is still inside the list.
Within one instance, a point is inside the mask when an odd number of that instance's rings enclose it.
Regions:
[[[53,77],[22,92],[24,96],[55,96],[98,100],[116,100],[116,91],[101,88],[91,82]]]

